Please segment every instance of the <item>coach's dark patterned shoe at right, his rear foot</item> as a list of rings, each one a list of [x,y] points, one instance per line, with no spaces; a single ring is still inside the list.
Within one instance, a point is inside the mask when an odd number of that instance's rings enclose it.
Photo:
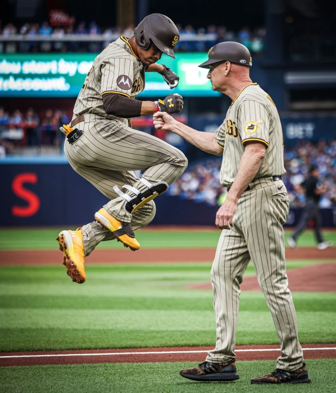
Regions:
[[[285,371],[279,368],[275,369],[272,373],[262,377],[253,378],[252,384],[304,384],[309,383],[311,379],[308,377],[306,364],[303,363],[302,367],[295,371]]]

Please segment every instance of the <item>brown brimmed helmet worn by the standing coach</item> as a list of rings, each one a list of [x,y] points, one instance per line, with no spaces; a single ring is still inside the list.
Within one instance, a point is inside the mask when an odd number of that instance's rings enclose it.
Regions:
[[[210,68],[211,64],[230,61],[239,65],[252,66],[252,57],[249,49],[243,44],[227,41],[215,44],[208,52],[209,60],[200,64],[201,68]]]

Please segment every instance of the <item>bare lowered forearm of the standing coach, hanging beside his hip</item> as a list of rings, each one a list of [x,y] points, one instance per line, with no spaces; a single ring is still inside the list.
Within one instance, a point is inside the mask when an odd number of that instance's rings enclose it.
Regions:
[[[246,146],[240,160],[237,176],[227,196],[230,200],[237,203],[243,192],[258,173],[265,156],[265,148],[262,147],[260,143]]]

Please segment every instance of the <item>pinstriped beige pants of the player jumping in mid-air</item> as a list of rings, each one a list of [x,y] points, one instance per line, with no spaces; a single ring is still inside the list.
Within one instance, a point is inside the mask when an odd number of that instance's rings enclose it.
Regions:
[[[84,134],[74,144],[66,140],[64,145],[72,168],[110,199],[104,207],[113,217],[130,222],[134,230],[149,224],[155,216],[154,202],[130,214],[125,209],[125,199],[116,194],[113,186],[121,189],[129,184],[139,191],[146,189],[136,178],[133,172],[136,170],[145,170],[142,177],[151,183],[166,181],[170,184],[187,168],[184,154],[165,141],[121,122],[85,115],[85,121],[76,127]],[[131,191],[125,193],[134,196]],[[84,225],[82,230],[86,256],[100,241],[114,238],[94,221]]]

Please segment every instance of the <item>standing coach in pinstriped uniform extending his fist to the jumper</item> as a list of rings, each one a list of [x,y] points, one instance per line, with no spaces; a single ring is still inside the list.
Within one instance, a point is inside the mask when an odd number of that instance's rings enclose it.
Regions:
[[[216,315],[216,347],[205,362],[180,375],[195,381],[231,381],[236,372],[235,340],[240,284],[252,260],[281,343],[277,368],[252,379],[256,384],[310,382],[297,335],[286,274],[284,228],[289,198],[280,118],[271,97],[252,83],[248,48],[235,42],[214,45],[208,68],[212,89],[232,103],[215,134],[191,129],[167,113],[154,115],[155,127],[172,131],[200,149],[223,155],[220,183],[228,188],[216,214],[222,229],[211,268]]]

